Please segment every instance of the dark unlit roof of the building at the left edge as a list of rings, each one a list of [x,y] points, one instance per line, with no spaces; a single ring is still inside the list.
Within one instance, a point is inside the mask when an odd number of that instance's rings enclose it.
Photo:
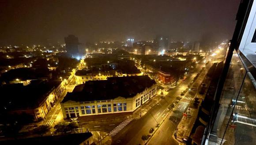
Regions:
[[[0,87],[0,110],[31,109],[45,100],[49,93],[60,85],[61,81],[31,81],[29,85],[22,83],[5,84]],[[14,91],[15,90],[15,91]]]

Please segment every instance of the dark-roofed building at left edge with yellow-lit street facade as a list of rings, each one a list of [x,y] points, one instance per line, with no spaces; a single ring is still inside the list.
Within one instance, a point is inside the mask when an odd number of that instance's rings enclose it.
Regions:
[[[22,83],[3,85],[0,87],[0,112],[26,113],[34,120],[44,120],[64,90],[62,81],[34,80],[26,86]]]

